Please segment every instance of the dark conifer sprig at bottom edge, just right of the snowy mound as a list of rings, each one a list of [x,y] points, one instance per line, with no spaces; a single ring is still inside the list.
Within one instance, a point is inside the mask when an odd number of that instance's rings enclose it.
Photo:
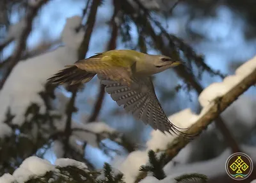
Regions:
[[[97,180],[97,183],[124,183],[123,173],[113,173],[111,166],[108,163],[104,164],[104,179]]]

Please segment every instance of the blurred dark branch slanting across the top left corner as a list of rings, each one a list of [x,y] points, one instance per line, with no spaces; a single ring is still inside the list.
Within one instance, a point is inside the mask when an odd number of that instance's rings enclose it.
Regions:
[[[12,58],[10,59],[10,61],[8,61],[8,63],[6,63],[7,68],[3,74],[3,79],[0,81],[0,90],[3,88],[6,79],[11,74],[15,65],[17,65],[17,63],[19,62],[20,57],[22,56],[22,52],[26,49],[26,41],[28,39],[29,33],[32,30],[33,20],[36,17],[38,10],[40,10],[40,8],[45,3],[47,3],[47,1],[49,0],[41,0],[38,4],[36,4],[36,6],[30,7],[28,15],[26,16],[26,27],[22,30],[19,40],[17,40],[17,44],[14,49]]]

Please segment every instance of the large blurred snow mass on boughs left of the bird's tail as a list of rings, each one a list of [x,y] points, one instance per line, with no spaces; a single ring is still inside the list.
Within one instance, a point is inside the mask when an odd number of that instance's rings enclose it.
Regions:
[[[77,60],[77,49],[83,40],[84,31],[76,33],[81,17],[67,19],[63,29],[62,40],[65,47],[60,47],[52,52],[47,52],[35,58],[20,61],[13,68],[3,89],[0,92],[0,120],[3,121],[8,107],[15,115],[13,123],[20,124],[24,121],[26,108],[35,102],[44,106],[44,101],[38,92],[44,90],[44,84],[53,74],[61,70],[65,65]],[[43,112],[43,107],[40,112]]]

